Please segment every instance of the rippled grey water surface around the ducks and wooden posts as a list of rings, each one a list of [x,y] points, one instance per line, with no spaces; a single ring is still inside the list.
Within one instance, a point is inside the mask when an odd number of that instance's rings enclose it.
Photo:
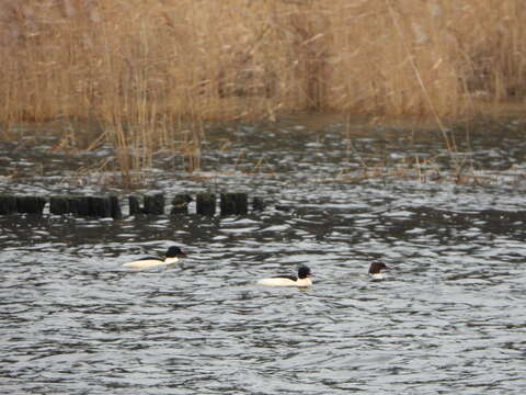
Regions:
[[[437,135],[370,132],[350,142],[333,125],[225,136],[230,148],[218,132],[197,177],[160,158],[149,188],[167,196],[247,191],[268,203],[261,213],[0,216],[1,393],[526,391],[519,127],[459,142],[472,171],[499,172],[483,185],[342,178],[363,161],[395,168],[415,153],[446,166],[453,159]],[[20,174],[3,170],[0,192],[99,188],[71,185],[70,159],[38,149],[2,146],[0,160]],[[23,170],[37,162],[47,170]],[[188,255],[181,264],[121,267],[174,244]],[[371,260],[392,267],[386,281],[369,281]],[[255,285],[299,263],[315,273],[311,289]]]

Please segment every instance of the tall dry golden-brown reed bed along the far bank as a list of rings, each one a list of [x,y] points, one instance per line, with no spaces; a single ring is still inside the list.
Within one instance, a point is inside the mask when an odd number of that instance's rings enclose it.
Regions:
[[[524,98],[525,22],[523,0],[0,0],[0,122],[95,121],[125,173],[159,147],[198,168],[205,121],[441,123]]]

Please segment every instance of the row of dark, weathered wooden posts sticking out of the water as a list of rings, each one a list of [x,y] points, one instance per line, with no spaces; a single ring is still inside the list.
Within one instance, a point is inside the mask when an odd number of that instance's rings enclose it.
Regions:
[[[71,214],[75,216],[122,218],[123,213],[118,198],[107,196],[43,196],[0,195],[0,215],[37,214],[42,215],[49,201],[49,213],[55,215]],[[170,214],[188,214],[188,204],[193,201],[190,194],[178,194],[171,201]],[[196,213],[214,216],[216,214],[216,194],[198,193],[196,195]],[[142,196],[128,196],[129,215],[163,215],[165,214],[164,194],[158,193]],[[247,193],[221,193],[219,201],[220,215],[243,215],[249,212]],[[264,203],[261,198],[253,198],[252,210],[262,211]]]

